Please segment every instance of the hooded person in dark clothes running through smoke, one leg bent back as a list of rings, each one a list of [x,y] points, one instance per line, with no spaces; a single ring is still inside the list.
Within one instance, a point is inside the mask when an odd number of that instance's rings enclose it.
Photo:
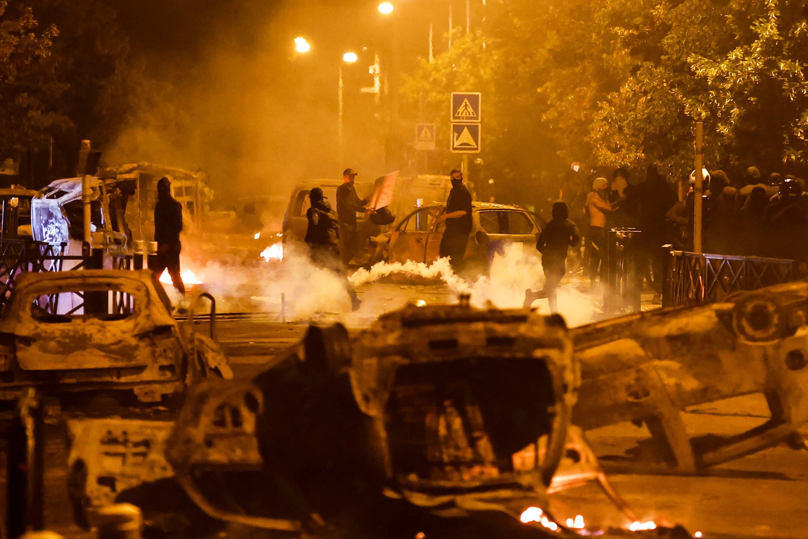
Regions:
[[[553,202],[553,218],[541,231],[536,242],[536,249],[541,253],[541,267],[545,271],[545,288],[534,293],[530,288],[524,293],[524,306],[530,307],[540,297],[549,299],[550,310],[558,311],[556,289],[566,273],[566,251],[577,247],[581,242],[578,227],[568,219],[570,209],[566,202]]]

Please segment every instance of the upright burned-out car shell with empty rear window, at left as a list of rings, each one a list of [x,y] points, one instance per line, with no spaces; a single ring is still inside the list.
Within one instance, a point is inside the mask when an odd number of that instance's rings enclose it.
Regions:
[[[4,400],[33,386],[125,390],[158,402],[208,376],[233,376],[221,348],[175,321],[148,271],[24,273],[0,317]]]

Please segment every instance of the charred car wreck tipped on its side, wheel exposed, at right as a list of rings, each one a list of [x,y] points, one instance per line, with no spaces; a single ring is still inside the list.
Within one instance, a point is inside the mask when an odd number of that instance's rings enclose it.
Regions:
[[[799,281],[575,328],[583,382],[573,422],[584,429],[644,423],[659,448],[644,465],[688,474],[783,441],[803,447],[806,321],[808,282]],[[764,424],[728,439],[688,436],[688,406],[755,393],[771,412]]]

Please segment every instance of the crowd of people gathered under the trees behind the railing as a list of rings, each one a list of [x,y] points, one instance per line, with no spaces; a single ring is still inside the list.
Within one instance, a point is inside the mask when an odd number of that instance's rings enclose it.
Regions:
[[[804,180],[778,173],[762,179],[756,166],[730,178],[724,171],[703,171],[702,251],[720,255],[764,256],[808,260],[808,190]],[[559,199],[569,208],[570,220],[583,236],[583,255],[570,257],[572,271],[583,273],[594,285],[600,275],[605,231],[634,228],[643,278],[662,292],[663,251],[692,251],[694,234],[695,171],[684,180],[682,196],[676,182],[648,166],[645,175],[625,167],[611,179],[592,167],[588,174],[578,162],[567,172]],[[688,187],[689,186],[689,187]],[[555,214],[556,208],[553,208]]]

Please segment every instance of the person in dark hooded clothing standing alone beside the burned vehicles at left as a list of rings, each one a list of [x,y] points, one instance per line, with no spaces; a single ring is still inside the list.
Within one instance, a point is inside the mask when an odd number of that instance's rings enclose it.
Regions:
[[[152,268],[158,278],[166,269],[177,292],[185,295],[183,277],[179,274],[179,252],[183,250],[179,233],[183,231],[183,204],[171,196],[171,180],[161,178],[157,183],[157,204],[154,204],[154,241],[157,242],[157,266]]]

